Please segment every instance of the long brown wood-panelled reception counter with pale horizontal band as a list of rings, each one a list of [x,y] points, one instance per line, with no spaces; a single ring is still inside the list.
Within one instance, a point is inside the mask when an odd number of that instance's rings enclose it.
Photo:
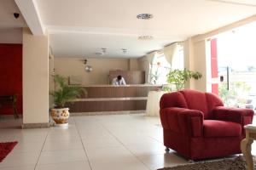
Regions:
[[[83,86],[84,92],[73,103],[67,103],[71,113],[104,111],[145,111],[149,91],[160,85],[94,85]]]

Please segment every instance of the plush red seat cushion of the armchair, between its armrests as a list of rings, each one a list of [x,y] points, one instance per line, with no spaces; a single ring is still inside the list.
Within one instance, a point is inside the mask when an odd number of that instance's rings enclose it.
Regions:
[[[241,124],[236,122],[205,120],[203,134],[206,138],[241,136]]]

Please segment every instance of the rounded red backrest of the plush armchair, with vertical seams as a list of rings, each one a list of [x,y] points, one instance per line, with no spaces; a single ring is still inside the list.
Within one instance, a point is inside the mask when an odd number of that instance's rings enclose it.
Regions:
[[[202,111],[204,119],[211,119],[212,109],[223,105],[222,100],[217,95],[195,90],[182,90],[164,94],[160,99],[161,109],[166,107],[181,107]]]

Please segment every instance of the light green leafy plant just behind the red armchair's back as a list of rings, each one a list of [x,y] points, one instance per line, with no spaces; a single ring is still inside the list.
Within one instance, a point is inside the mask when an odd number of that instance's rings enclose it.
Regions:
[[[199,80],[201,77],[202,75],[198,71],[189,71],[187,69],[184,69],[183,71],[181,71],[176,69],[174,71],[170,71],[167,74],[167,82],[170,83],[171,85],[174,85],[176,88],[175,90],[178,91],[185,87],[185,83],[189,79],[194,78],[195,80]]]

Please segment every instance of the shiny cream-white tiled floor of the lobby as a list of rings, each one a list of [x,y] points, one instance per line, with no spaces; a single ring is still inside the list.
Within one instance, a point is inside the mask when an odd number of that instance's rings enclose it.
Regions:
[[[0,119],[0,141],[17,140],[0,170],[153,170],[186,163],[165,153],[159,117],[73,116],[69,127],[20,129]]]

